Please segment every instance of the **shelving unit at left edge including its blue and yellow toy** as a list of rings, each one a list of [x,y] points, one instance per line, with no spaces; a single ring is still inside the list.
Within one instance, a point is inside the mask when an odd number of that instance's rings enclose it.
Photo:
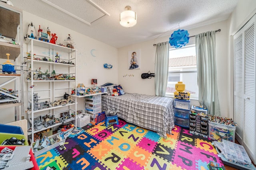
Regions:
[[[1,1],[0,9],[0,59],[7,59],[0,67],[0,112],[18,121],[24,116],[22,10]]]

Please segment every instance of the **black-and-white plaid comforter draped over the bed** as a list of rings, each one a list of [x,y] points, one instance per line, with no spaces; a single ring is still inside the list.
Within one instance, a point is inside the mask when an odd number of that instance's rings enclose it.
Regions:
[[[156,131],[166,138],[174,128],[174,102],[171,98],[145,94],[102,95],[102,109],[118,109],[118,117]]]

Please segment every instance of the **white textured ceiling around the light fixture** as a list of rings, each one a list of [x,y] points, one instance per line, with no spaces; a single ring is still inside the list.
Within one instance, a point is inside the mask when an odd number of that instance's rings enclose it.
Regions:
[[[116,48],[171,34],[178,29],[178,24],[180,29],[190,29],[226,20],[238,2],[238,0],[10,1],[15,7],[26,12]],[[50,6],[51,3],[58,8]],[[125,28],[119,24],[119,14],[127,5],[132,7],[138,18],[137,24],[131,28]],[[109,15],[104,14],[98,7]],[[80,20],[74,19],[72,16],[76,16]]]

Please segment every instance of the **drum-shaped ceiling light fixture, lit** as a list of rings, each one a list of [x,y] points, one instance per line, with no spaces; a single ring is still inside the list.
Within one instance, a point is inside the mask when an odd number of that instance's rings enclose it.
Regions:
[[[126,6],[124,10],[120,14],[120,24],[126,28],[133,27],[137,23],[136,12],[133,12],[130,6]]]

